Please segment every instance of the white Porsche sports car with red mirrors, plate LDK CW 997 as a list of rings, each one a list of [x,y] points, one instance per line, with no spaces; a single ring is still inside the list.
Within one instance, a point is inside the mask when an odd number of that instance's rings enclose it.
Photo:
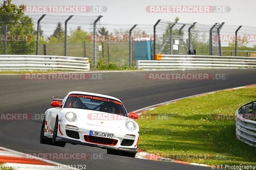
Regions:
[[[123,103],[114,97],[69,92],[55,98],[46,110],[40,132],[40,142],[64,147],[66,143],[107,149],[108,154],[135,157],[139,143],[139,126],[127,114]]]

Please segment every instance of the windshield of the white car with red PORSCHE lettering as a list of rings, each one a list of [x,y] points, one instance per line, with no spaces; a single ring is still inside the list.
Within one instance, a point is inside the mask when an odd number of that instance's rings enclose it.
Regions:
[[[120,101],[99,96],[70,94],[63,107],[96,110],[128,117]]]

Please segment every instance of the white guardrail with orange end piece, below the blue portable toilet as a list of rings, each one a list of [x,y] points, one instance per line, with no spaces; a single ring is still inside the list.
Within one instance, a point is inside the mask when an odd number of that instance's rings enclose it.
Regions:
[[[155,60],[137,60],[136,69],[256,68],[256,57],[218,55],[155,55]]]

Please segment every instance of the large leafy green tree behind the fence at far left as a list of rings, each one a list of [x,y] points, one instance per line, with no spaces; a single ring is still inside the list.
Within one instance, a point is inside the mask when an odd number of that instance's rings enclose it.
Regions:
[[[0,5],[0,33],[4,35],[4,21],[10,15],[12,17],[7,23],[7,35],[20,35],[24,41],[8,41],[7,54],[32,54],[36,49],[36,38],[34,36],[34,24],[32,18],[25,15],[25,5],[16,6],[11,0],[4,0]],[[4,42],[0,42],[3,47]],[[3,48],[0,48],[3,54]]]

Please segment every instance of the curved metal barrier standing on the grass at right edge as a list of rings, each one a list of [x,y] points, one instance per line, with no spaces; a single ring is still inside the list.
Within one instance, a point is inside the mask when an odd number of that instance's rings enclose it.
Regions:
[[[247,118],[255,118],[255,109],[256,100],[236,110],[236,137],[254,147],[256,147],[256,121]]]

